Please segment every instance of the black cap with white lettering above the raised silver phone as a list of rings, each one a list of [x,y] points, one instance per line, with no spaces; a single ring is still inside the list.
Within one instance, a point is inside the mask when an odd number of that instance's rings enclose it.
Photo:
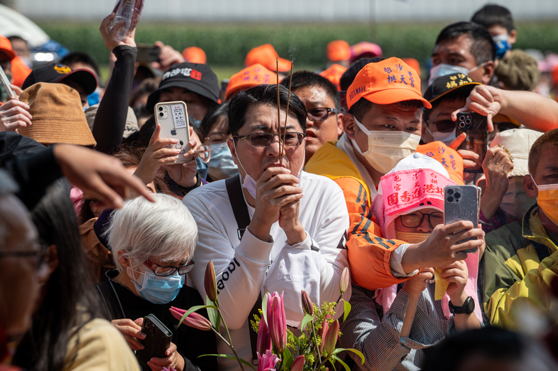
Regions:
[[[219,100],[219,82],[211,68],[202,63],[185,62],[175,64],[165,71],[158,89],[149,94],[149,98],[147,98],[145,106],[147,111],[153,112],[153,108],[159,103],[162,90],[173,87],[199,94],[214,103],[218,103]]]

